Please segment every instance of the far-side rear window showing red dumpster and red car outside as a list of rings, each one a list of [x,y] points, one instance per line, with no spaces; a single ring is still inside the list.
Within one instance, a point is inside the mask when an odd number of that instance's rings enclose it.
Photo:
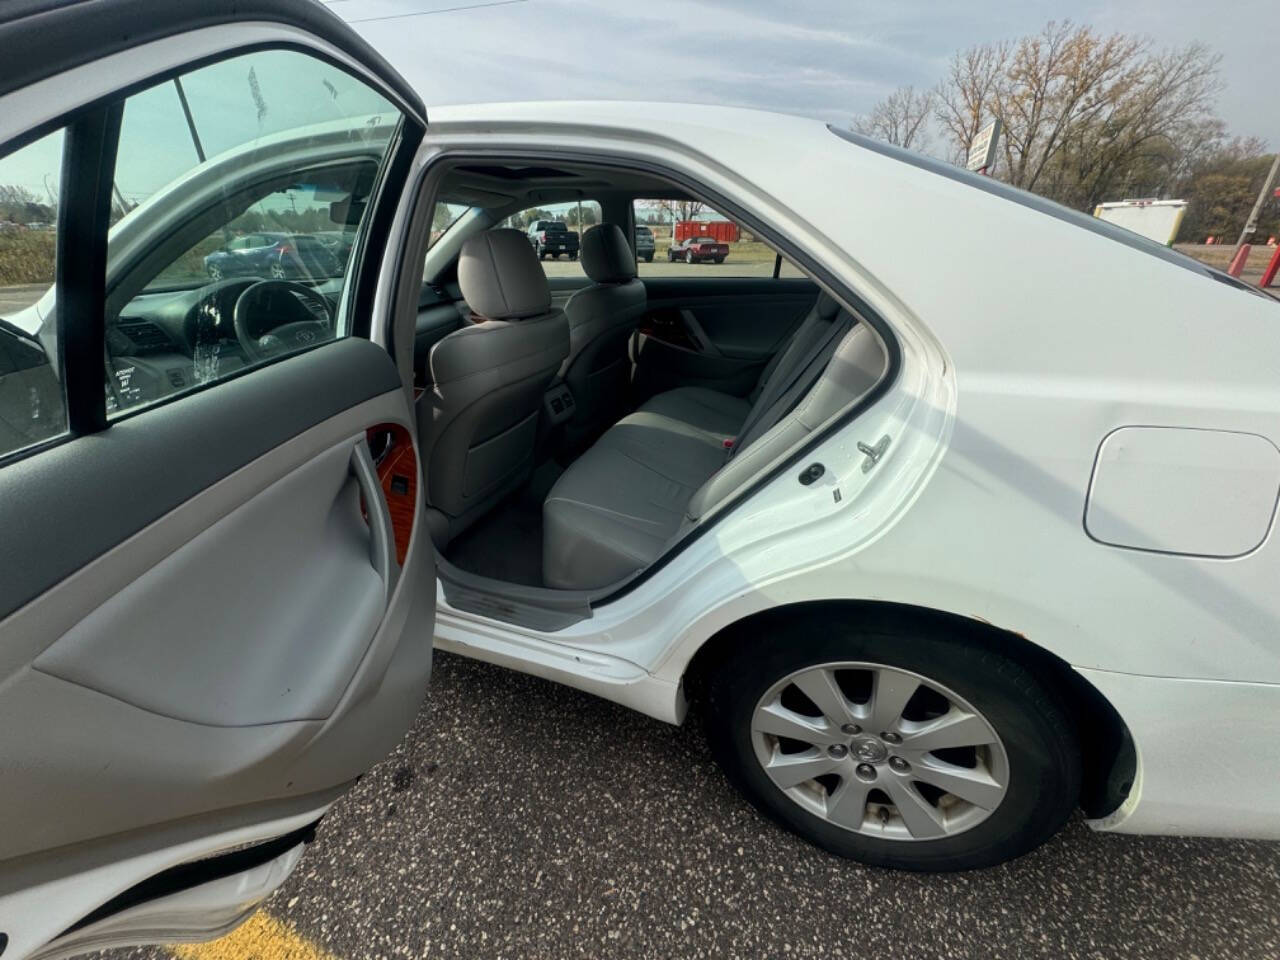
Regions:
[[[636,200],[635,250],[640,276],[804,276],[750,230],[705,204]]]

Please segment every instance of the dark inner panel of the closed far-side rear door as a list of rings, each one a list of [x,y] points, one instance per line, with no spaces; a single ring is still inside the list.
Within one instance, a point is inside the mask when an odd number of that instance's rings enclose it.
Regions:
[[[637,399],[676,387],[745,396],[818,296],[808,279],[646,276],[632,343]]]

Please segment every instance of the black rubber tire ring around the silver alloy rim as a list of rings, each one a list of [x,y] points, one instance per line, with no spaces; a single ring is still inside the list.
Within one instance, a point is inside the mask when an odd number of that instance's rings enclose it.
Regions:
[[[1000,805],[977,826],[938,840],[890,840],[812,813],[765,774],[751,716],[778,681],[804,667],[868,662],[918,673],[968,700],[995,728],[1009,759]],[[730,781],[762,813],[838,856],[904,870],[991,867],[1061,829],[1080,794],[1080,753],[1060,699],[1014,659],[950,627],[795,616],[744,636],[707,686],[707,731]]]

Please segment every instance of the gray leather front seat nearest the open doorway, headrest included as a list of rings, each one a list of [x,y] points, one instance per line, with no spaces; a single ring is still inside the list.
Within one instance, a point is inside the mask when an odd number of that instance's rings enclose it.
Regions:
[[[568,321],[518,230],[468,239],[458,284],[472,323],[431,348],[417,402],[428,521],[442,548],[527,479],[543,393],[568,356]]]

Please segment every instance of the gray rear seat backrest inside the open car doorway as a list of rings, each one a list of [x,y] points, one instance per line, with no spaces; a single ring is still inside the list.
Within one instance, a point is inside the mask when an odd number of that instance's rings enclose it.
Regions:
[[[841,312],[835,320],[823,323],[826,330],[815,329],[812,335],[820,337],[829,332],[828,324],[831,323],[847,324],[850,321],[852,317]],[[799,333],[795,339],[801,339]],[[810,346],[813,342],[809,339]],[[791,346],[796,346],[795,340]],[[805,353],[792,356],[790,362],[792,366],[803,362],[804,356]],[[822,357],[819,356],[815,362],[820,367]],[[689,500],[685,526],[705,516],[709,509],[748,483],[767,463],[813,433],[837,411],[865,396],[884,375],[884,366],[886,355],[879,339],[865,324],[856,324],[851,332],[832,344],[831,360],[822,370],[818,381],[791,410],[786,410],[787,398],[776,398],[774,402],[780,410],[759,417],[756,429],[749,428],[746,434],[740,438],[741,445],[735,456]],[[773,371],[774,376],[778,375],[778,370],[783,370],[782,364],[778,364],[777,370]],[[787,376],[787,374],[783,372],[782,376]],[[768,385],[765,392],[768,392]],[[765,399],[764,393],[762,393],[760,399]]]

